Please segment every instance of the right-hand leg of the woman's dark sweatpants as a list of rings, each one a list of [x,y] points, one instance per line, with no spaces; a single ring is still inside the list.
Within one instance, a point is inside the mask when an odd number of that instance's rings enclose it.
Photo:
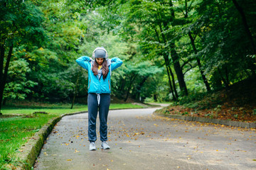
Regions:
[[[110,94],[100,94],[100,140],[107,141],[107,115],[110,109]]]

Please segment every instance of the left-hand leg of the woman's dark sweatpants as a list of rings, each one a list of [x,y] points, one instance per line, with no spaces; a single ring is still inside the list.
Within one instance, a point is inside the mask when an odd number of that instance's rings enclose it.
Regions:
[[[97,140],[96,120],[97,120],[97,94],[88,94],[88,139],[90,142]]]

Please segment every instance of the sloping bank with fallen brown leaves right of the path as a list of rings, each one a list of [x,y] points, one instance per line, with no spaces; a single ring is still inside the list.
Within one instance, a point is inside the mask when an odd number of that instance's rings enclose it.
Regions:
[[[168,106],[157,112],[253,123],[256,122],[256,81],[240,81],[200,101]]]

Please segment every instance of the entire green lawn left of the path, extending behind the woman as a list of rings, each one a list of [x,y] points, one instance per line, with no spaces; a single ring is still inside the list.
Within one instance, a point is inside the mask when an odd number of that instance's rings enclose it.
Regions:
[[[118,108],[143,108],[131,103],[110,105],[110,109]],[[16,164],[16,152],[24,145],[30,137],[38,132],[51,118],[58,117],[64,113],[76,113],[87,111],[85,105],[48,104],[44,106],[6,106],[2,109],[0,116],[0,169],[6,169],[6,164]],[[33,114],[45,112],[48,114]]]

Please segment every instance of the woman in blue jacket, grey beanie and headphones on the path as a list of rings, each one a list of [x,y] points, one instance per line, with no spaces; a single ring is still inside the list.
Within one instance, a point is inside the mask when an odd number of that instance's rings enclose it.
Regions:
[[[110,149],[107,144],[107,115],[110,108],[110,76],[111,71],[122,65],[122,60],[114,57],[107,58],[107,50],[97,47],[92,52],[92,58],[82,56],[76,60],[88,71],[88,138],[90,150],[96,150],[96,119],[97,111],[100,116],[100,140],[102,149]]]

